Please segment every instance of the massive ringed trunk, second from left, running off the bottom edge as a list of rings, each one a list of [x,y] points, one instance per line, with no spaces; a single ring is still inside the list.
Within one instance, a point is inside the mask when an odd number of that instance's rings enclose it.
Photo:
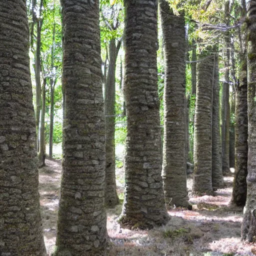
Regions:
[[[105,121],[98,0],[62,0],[63,172],[55,255],[104,255]]]

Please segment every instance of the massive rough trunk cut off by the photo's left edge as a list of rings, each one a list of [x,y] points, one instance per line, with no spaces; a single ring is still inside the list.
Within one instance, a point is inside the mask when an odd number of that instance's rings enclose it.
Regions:
[[[1,256],[46,255],[31,88],[26,2],[0,1]]]

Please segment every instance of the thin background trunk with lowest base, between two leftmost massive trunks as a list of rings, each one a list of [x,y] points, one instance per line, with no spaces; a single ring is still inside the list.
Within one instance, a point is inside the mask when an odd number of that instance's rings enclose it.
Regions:
[[[44,126],[44,114],[45,114],[45,85],[46,85],[46,78],[43,79],[42,84],[42,107],[41,107],[41,117],[40,117],[40,128],[39,128],[39,152],[38,152],[38,162],[39,166],[45,165],[45,126]]]

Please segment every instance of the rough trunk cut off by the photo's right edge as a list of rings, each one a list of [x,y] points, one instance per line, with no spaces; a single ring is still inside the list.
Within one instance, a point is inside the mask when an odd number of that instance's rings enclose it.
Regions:
[[[248,5],[248,175],[247,198],[241,227],[242,239],[249,242],[256,235],[256,0]]]

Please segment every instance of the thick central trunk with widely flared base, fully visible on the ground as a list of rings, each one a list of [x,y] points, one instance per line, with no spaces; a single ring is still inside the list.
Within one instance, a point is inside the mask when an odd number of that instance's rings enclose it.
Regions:
[[[124,0],[127,144],[125,197],[119,221],[140,228],[161,225],[164,205],[157,95],[157,0]]]

